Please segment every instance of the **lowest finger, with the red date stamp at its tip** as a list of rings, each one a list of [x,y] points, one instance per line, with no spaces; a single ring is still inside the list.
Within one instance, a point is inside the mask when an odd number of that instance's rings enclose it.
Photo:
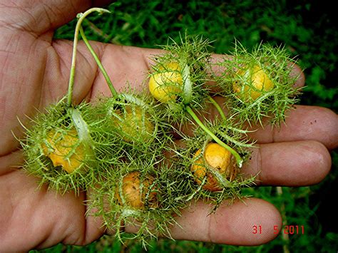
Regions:
[[[277,236],[276,227],[281,227],[278,210],[259,199],[237,201],[233,205],[222,203],[215,213],[212,205],[197,202],[183,210],[178,217],[179,225],[170,229],[174,239],[188,239],[232,245],[265,244]],[[255,227],[261,231],[255,232]],[[126,227],[126,232],[136,232],[136,227]]]

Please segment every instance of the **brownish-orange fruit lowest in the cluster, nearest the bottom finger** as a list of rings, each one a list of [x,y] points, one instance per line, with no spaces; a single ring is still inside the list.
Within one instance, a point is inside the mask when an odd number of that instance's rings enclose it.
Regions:
[[[124,201],[121,199],[119,189],[116,189],[115,197],[120,205],[125,204],[129,207],[142,210],[145,208],[145,205],[148,204],[149,207],[155,208],[158,206],[158,202],[155,190],[149,189],[152,184],[153,177],[148,176],[142,181],[143,186],[141,188],[140,172],[129,172],[122,180]],[[148,198],[145,200],[147,195]]]

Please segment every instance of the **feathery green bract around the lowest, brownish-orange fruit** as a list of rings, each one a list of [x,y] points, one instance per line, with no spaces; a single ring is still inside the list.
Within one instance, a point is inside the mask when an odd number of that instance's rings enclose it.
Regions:
[[[158,156],[154,158],[158,159]],[[175,182],[171,180],[176,176],[173,175],[170,166],[163,165],[161,162],[154,164],[154,162],[153,159],[134,158],[112,167],[107,172],[106,180],[100,182],[93,191],[91,200],[87,203],[89,210],[87,215],[102,217],[103,225],[116,231],[116,237],[120,239],[126,226],[138,230],[130,237],[138,239],[143,244],[147,244],[148,239],[151,238],[170,237],[169,227],[175,224],[175,216],[180,215],[180,208],[186,205],[184,202],[178,205],[178,201],[175,200],[178,191],[175,191]],[[144,202],[143,208],[121,203],[121,193],[128,197],[126,192],[123,192],[122,181],[129,172],[140,173],[140,192],[145,193],[141,199]],[[149,177],[153,178],[153,182],[147,188],[143,185],[143,180]],[[149,200],[150,196],[147,193],[150,191],[155,192],[155,206],[151,205],[154,202],[149,203],[154,201]],[[139,196],[130,193],[129,197]]]

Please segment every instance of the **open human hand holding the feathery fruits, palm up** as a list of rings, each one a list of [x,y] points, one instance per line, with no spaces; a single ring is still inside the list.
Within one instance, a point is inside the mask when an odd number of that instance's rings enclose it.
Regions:
[[[6,3],[5,3],[6,2]],[[53,30],[71,21],[78,12],[90,8],[90,1],[0,1],[1,107],[0,137],[0,249],[27,251],[64,244],[88,244],[107,232],[100,220],[85,217],[87,195],[60,196],[36,190],[36,179],[13,166],[22,162],[19,125],[36,108],[45,108],[66,94],[71,66],[71,41],[53,41]],[[94,4],[105,4],[94,1]],[[116,89],[126,81],[140,88],[149,69],[148,58],[155,50],[92,43]],[[108,95],[108,86],[98,73],[86,46],[78,46],[74,100],[91,100]],[[216,56],[215,56],[216,57]],[[302,86],[304,81],[299,82]],[[329,172],[328,149],[337,147],[338,118],[325,108],[297,106],[289,113],[287,127],[280,131],[265,128],[252,133],[259,148],[243,172],[256,174],[257,184],[312,185]],[[183,211],[173,227],[175,239],[254,245],[273,239],[273,226],[281,224],[279,212],[270,203],[255,198],[222,205],[213,215],[210,206],[198,202],[195,210]],[[252,224],[262,224],[265,232],[252,234]],[[127,232],[132,228],[126,227]]]

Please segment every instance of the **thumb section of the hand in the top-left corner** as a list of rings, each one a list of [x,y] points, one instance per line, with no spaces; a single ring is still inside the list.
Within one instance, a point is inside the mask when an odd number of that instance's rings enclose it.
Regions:
[[[6,1],[1,0],[1,20],[6,26],[28,31],[38,37],[47,31],[67,24],[76,14],[92,6],[109,4],[108,0],[58,0],[58,1]]]

